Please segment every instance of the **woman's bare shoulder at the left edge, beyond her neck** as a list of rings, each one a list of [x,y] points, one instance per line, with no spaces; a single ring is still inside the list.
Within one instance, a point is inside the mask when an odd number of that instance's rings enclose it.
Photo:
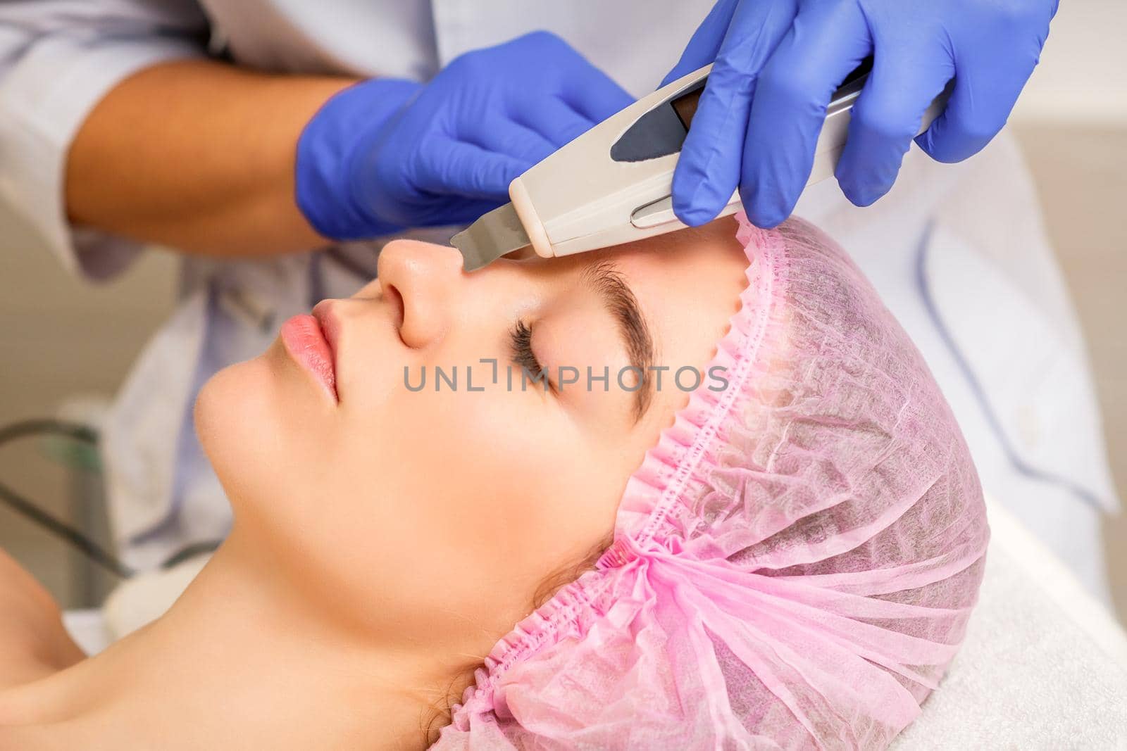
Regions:
[[[86,658],[63,628],[59,605],[0,549],[0,689],[44,678]]]

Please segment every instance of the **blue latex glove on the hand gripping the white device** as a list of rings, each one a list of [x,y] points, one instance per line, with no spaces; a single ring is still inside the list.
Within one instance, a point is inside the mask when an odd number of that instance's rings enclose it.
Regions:
[[[1002,128],[1057,0],[720,0],[666,78],[716,61],[673,178],[686,224],[713,218],[739,185],[748,218],[787,218],[809,178],[826,105],[873,55],[835,176],[868,206],[885,195],[924,110],[952,78],[947,110],[915,141],[957,162]]]

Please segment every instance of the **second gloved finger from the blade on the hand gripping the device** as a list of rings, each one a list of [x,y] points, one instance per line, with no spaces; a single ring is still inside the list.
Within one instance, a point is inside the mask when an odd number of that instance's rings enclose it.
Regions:
[[[834,91],[872,48],[852,2],[804,3],[764,64],[744,143],[739,193],[747,217],[773,227],[795,209]]]

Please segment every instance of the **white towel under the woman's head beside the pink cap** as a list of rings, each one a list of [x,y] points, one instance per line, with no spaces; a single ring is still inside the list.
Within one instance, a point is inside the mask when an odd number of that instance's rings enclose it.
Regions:
[[[1127,749],[1127,635],[1005,509],[986,509],[967,638],[891,748]]]

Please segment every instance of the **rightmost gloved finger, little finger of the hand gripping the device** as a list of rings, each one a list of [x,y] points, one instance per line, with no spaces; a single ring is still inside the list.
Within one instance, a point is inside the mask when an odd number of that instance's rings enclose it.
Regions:
[[[997,43],[1005,44],[1005,39]],[[962,161],[997,135],[1037,65],[1040,47],[1023,54],[992,52],[956,55],[955,89],[947,109],[916,137],[916,143],[932,159]]]

